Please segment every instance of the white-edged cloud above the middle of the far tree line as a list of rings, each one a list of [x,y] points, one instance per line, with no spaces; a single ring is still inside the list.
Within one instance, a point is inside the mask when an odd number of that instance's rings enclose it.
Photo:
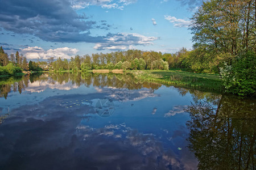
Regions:
[[[97,43],[94,49],[97,50],[125,50],[135,45],[152,45],[154,40],[158,37],[146,37],[138,33],[117,33],[109,35],[106,42]]]

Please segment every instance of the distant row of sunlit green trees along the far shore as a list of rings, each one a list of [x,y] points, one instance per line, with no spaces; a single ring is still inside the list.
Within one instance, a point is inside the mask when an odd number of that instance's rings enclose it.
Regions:
[[[142,50],[127,50],[112,53],[96,53],[89,56],[75,56],[68,59],[57,58],[52,62],[54,70],[91,70],[91,69],[125,69],[145,70],[160,69],[168,70],[169,64],[162,53],[143,52]]]

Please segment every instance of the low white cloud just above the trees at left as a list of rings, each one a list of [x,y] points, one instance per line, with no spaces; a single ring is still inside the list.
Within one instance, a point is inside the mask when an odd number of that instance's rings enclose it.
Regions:
[[[22,49],[22,53],[27,59],[47,59],[49,57],[61,57],[61,58],[71,58],[74,56],[79,50],[76,48],[56,48],[56,49],[49,49],[44,50],[38,46],[28,46],[27,48]]]

